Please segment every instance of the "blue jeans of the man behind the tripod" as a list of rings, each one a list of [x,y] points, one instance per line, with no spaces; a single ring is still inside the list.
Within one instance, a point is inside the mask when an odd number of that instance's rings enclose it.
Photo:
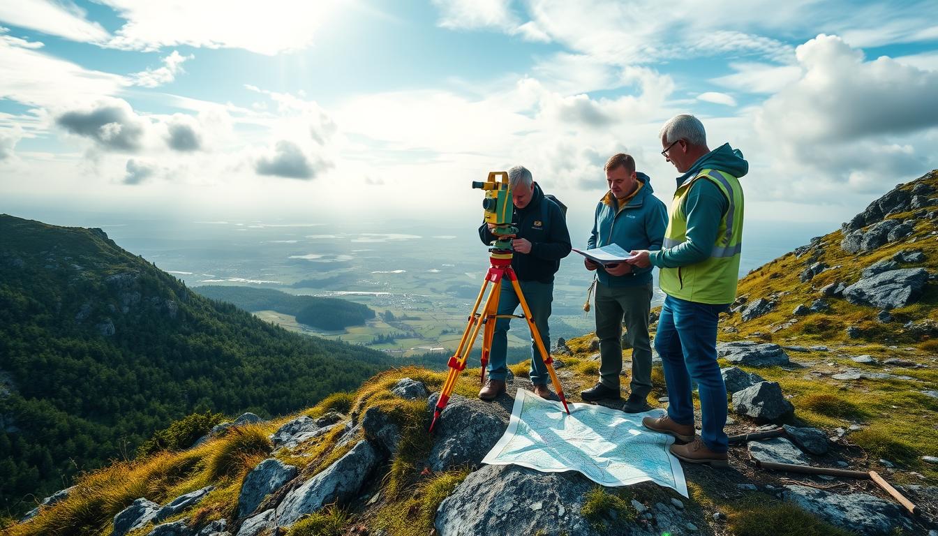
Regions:
[[[522,287],[524,301],[527,301],[534,325],[540,332],[540,340],[544,349],[550,351],[551,331],[547,319],[551,316],[551,302],[553,301],[553,283],[540,283],[537,281],[519,281]],[[498,299],[498,314],[514,314],[521,302],[515,294],[515,289],[506,278],[502,280],[502,293]],[[510,318],[499,318],[495,321],[495,331],[492,333],[492,351],[489,355],[489,377],[505,381],[508,374],[506,366],[508,349],[508,322]],[[521,320],[521,319],[519,319]],[[527,329],[527,322],[524,321]],[[540,350],[534,337],[531,338],[531,383],[534,385],[547,385],[551,376],[547,372],[547,365],[540,357]]]

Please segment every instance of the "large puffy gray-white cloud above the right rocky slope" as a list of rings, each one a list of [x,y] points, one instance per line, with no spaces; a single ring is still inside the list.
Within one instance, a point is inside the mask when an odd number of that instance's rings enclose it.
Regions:
[[[869,61],[826,35],[798,47],[796,57],[798,80],[754,116],[774,169],[797,177],[779,188],[878,192],[931,169],[927,140],[938,127],[938,72],[885,56]]]

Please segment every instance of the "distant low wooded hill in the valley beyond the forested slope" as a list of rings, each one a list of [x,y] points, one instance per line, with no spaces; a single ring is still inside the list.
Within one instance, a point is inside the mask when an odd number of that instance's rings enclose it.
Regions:
[[[273,288],[206,285],[194,287],[206,298],[228,301],[245,311],[277,311],[291,314],[300,324],[319,329],[361,326],[374,318],[367,305],[347,299],[294,296]]]

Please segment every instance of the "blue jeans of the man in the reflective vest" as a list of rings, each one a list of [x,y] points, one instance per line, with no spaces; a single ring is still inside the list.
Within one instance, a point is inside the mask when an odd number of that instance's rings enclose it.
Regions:
[[[694,423],[690,380],[701,399],[703,443],[713,452],[726,452],[726,385],[717,364],[717,322],[729,305],[710,305],[668,296],[661,307],[655,349],[661,356],[668,385],[668,416],[679,424]]]

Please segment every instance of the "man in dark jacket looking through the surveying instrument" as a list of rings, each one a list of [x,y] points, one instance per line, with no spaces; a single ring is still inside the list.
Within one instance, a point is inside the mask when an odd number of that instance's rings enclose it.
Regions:
[[[534,324],[540,332],[541,342],[545,348],[550,348],[551,331],[547,319],[551,316],[553,274],[560,268],[560,259],[570,253],[567,220],[560,207],[544,196],[544,192],[526,168],[518,165],[509,169],[508,185],[511,187],[515,208],[512,222],[518,228],[518,234],[511,241],[515,252],[511,259],[511,268],[514,268],[518,276],[524,300],[527,301]],[[491,244],[495,239],[492,226],[482,223],[478,228],[478,236],[485,244]],[[510,282],[503,281],[497,314],[514,314],[519,304],[514,287]],[[489,374],[482,390],[478,391],[478,397],[482,400],[493,400],[505,392],[509,320],[510,318],[499,318],[495,321],[489,355]],[[551,398],[552,393],[547,387],[551,377],[540,357],[534,338],[531,339],[529,377],[537,396]]]

